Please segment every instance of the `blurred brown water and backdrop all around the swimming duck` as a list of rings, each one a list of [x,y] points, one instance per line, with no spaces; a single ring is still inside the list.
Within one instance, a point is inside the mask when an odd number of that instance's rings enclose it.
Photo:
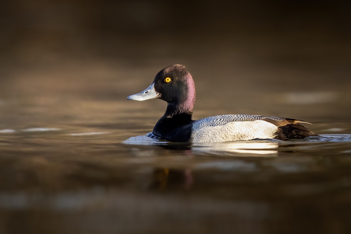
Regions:
[[[350,134],[350,9],[2,2],[0,233],[350,233],[347,140],[284,142],[256,158],[121,144],[166,107],[127,96],[172,64],[194,78],[194,119],[279,116]]]

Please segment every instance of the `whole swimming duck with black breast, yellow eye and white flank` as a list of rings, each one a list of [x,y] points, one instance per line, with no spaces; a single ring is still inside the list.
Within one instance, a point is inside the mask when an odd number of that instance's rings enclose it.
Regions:
[[[301,119],[261,115],[217,115],[193,120],[195,85],[185,66],[175,64],[159,71],[144,91],[128,96],[128,100],[159,98],[167,102],[165,114],[152,134],[171,142],[229,142],[258,139],[303,139],[317,136]]]

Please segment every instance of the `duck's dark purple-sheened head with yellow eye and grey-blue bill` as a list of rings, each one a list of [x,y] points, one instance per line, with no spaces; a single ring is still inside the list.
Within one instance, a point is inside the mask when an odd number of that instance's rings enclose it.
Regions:
[[[161,70],[153,83],[129,100],[143,101],[160,98],[168,103],[167,111],[173,116],[178,113],[191,113],[195,102],[195,85],[190,73],[183,65],[172,65]]]

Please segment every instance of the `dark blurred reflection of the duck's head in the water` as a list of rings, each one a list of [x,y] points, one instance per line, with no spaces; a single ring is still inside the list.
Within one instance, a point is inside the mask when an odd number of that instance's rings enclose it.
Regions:
[[[150,184],[151,190],[190,189],[193,185],[193,175],[190,169],[155,168]]]

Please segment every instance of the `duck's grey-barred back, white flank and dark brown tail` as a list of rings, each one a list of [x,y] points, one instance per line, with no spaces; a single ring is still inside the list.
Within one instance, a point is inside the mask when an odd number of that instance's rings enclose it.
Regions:
[[[225,142],[252,139],[292,139],[313,136],[299,119],[260,115],[218,115],[194,121],[191,142]]]

